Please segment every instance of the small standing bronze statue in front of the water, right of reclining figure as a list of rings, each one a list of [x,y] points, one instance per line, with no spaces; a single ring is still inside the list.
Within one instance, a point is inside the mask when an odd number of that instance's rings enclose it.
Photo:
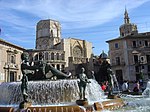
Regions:
[[[85,72],[85,69],[82,67],[81,68],[81,73],[79,74],[80,82],[78,83],[79,90],[80,90],[80,100],[87,100],[85,98],[85,89],[86,89],[87,83],[91,83],[88,80],[88,78],[87,78],[87,76],[84,72]]]

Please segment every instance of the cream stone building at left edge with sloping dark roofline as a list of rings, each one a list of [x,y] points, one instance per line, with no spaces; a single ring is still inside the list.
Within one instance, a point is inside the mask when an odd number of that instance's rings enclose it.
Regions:
[[[0,82],[12,82],[21,79],[21,54],[25,50],[0,39]]]

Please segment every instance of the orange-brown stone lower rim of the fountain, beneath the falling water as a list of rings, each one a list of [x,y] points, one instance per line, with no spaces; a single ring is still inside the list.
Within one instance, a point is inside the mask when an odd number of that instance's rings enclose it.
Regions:
[[[111,99],[103,102],[96,102],[94,105],[81,107],[78,105],[70,106],[31,106],[27,109],[14,109],[13,107],[0,107],[0,112],[99,112],[102,110],[116,110],[124,106],[122,99]]]

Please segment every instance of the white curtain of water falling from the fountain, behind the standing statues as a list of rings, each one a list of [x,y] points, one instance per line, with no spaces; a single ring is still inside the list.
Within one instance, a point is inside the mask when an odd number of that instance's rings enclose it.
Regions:
[[[99,101],[103,92],[95,80],[87,85],[86,97],[89,101]],[[23,101],[21,82],[0,84],[0,105],[19,105]],[[56,81],[29,81],[28,100],[33,105],[59,105],[75,102],[79,99],[77,79]]]

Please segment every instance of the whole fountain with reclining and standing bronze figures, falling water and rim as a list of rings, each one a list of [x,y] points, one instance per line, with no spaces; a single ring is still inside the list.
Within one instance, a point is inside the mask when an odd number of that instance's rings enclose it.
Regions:
[[[82,76],[79,79],[69,79],[68,75],[51,65],[42,63],[44,67],[30,66],[28,61],[24,60],[27,58],[22,58],[22,82],[0,83],[0,112],[93,112],[116,109],[124,105],[120,98],[107,99],[96,80],[85,78],[83,69],[83,79]],[[34,77],[30,77],[34,75],[34,70],[43,73],[40,77],[44,79],[35,80]],[[59,79],[44,77],[44,73],[49,71],[53,73],[52,77],[56,76]],[[30,77],[30,81],[26,76]],[[84,80],[86,85],[82,82]]]

